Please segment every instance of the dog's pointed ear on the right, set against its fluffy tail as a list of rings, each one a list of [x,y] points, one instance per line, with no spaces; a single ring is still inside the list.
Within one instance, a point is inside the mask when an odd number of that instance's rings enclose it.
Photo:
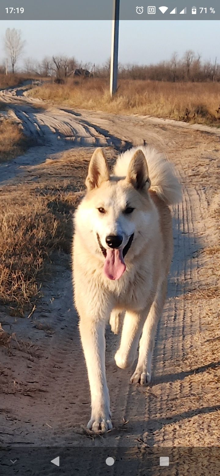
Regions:
[[[141,190],[144,187],[148,190],[150,187],[147,161],[144,153],[140,149],[136,150],[130,161],[126,180],[137,190]]]

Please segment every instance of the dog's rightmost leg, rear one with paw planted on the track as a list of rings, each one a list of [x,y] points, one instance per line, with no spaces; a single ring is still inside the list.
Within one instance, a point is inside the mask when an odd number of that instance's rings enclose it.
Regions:
[[[142,336],[140,339],[138,364],[130,381],[140,382],[141,385],[150,384],[151,379],[151,359],[153,354],[154,340],[157,331],[158,321],[162,314],[167,290],[167,279],[158,285],[149,315],[144,323]]]

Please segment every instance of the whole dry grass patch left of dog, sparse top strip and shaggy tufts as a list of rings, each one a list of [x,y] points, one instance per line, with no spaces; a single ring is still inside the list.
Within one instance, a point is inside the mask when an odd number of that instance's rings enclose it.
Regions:
[[[0,305],[11,315],[28,315],[54,263],[67,262],[90,156],[64,152],[32,167],[25,182],[0,189]]]

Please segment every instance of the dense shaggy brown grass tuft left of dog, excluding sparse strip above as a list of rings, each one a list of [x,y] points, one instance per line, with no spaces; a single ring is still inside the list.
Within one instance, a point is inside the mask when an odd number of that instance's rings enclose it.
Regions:
[[[67,213],[58,209],[67,205]],[[68,196],[56,198],[29,187],[17,187],[3,196],[0,210],[0,302],[13,315],[23,315],[39,294],[40,277],[55,249],[66,246],[66,228],[70,210]]]

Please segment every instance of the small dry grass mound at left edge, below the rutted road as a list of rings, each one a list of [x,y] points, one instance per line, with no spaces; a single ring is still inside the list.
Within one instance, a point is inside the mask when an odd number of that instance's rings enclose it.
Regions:
[[[29,141],[18,124],[9,119],[0,122],[0,162],[14,159],[29,146]]]

